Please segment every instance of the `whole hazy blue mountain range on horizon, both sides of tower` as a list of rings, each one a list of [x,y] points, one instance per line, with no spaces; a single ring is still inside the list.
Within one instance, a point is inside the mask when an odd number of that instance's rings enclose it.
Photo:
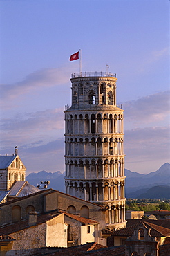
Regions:
[[[38,173],[32,172],[27,176],[27,181],[32,185],[37,185],[40,181],[50,181],[48,188],[53,188],[61,192],[65,192],[64,185],[64,176],[65,173],[62,172],[46,172],[41,171]],[[154,190],[159,191],[159,194],[156,194],[158,197],[154,198],[170,198],[169,186],[170,186],[170,164],[164,163],[157,171],[150,172],[149,174],[139,174],[138,172],[131,172],[130,170],[125,169],[126,176],[126,185],[125,185],[125,196],[126,198],[152,198],[154,196]],[[150,189],[153,190],[150,191]],[[165,194],[162,194],[162,191],[166,191]],[[153,194],[150,194],[152,193]]]

